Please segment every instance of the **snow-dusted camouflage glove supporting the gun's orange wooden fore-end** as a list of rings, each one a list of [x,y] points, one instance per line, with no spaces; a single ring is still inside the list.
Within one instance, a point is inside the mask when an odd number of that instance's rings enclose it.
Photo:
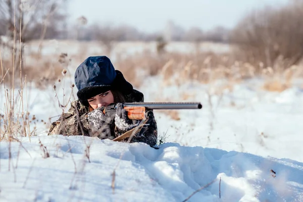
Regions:
[[[127,111],[123,109],[123,104],[117,104],[115,125],[119,133],[124,133],[139,125],[139,120],[131,120],[127,116]]]

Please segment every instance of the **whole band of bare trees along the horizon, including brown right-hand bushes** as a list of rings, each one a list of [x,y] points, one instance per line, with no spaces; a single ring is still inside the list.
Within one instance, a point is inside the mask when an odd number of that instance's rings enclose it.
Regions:
[[[115,41],[214,41],[236,44],[245,62],[285,66],[303,59],[303,1],[258,8],[231,30],[216,27],[184,29],[172,21],[162,32],[146,33],[130,25],[89,24],[85,16],[67,22],[68,0],[0,0],[0,35],[21,42],[33,39],[98,40],[111,49]],[[21,22],[21,26],[20,26]],[[72,24],[72,25],[71,25]],[[20,33],[21,37],[20,37]],[[0,41],[1,42],[1,41]],[[261,65],[262,66],[262,65]],[[262,66],[263,67],[263,66]]]

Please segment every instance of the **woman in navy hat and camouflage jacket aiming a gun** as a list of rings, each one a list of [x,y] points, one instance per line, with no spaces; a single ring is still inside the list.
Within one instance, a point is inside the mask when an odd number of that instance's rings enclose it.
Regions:
[[[145,142],[150,146],[157,143],[157,123],[152,113],[143,124],[127,117],[121,103],[144,102],[144,97],[133,89],[120,71],[115,70],[109,58],[87,58],[76,69],[75,84],[78,100],[72,102],[71,108],[58,121],[52,123],[48,134],[119,139],[126,132],[134,131],[130,142]],[[117,103],[114,118],[103,113],[105,107],[112,103]]]

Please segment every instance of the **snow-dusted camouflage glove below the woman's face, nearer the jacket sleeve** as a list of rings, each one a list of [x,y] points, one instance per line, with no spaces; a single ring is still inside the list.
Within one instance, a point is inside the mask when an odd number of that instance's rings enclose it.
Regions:
[[[87,114],[87,120],[92,132],[91,136],[97,136],[100,139],[111,137],[110,124],[113,119],[103,113],[104,109],[105,107],[100,107]]]

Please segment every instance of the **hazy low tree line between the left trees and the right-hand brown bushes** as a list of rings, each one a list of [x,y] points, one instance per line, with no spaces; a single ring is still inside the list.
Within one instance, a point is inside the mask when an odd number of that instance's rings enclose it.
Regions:
[[[155,41],[159,37],[166,41],[214,41],[228,42],[229,30],[224,27],[216,27],[209,31],[203,31],[200,28],[192,27],[185,30],[174,23],[169,22],[162,32],[146,33],[139,31],[130,25],[113,26],[110,24],[93,24],[85,26],[74,26],[70,33],[71,38],[78,40],[115,40],[115,41]]]

